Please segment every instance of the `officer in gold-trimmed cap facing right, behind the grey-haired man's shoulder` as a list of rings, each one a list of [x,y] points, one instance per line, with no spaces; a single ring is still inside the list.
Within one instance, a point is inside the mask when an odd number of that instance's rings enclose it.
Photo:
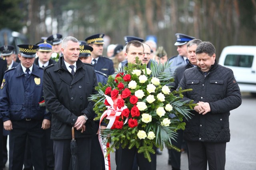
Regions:
[[[93,48],[92,55],[92,65],[95,70],[105,73],[107,76],[113,74],[114,63],[108,57],[103,57],[103,40],[104,34],[95,34],[85,39],[86,43]]]

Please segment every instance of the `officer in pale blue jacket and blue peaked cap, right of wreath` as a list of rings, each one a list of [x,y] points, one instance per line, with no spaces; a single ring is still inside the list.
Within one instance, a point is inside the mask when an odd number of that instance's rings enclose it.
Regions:
[[[175,34],[177,41],[174,45],[177,46],[177,51],[178,51],[178,55],[172,57],[169,59],[169,63],[171,63],[170,65],[170,70],[172,72],[174,72],[174,70],[178,67],[178,66],[182,66],[185,64],[188,64],[188,52],[187,52],[187,43],[188,41],[195,39],[195,37],[191,37],[185,34],[181,34],[181,33],[176,33]]]

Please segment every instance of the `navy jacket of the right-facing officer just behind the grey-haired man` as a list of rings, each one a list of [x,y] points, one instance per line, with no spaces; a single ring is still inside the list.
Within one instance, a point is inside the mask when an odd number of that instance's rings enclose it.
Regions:
[[[114,63],[111,59],[106,57],[99,57],[94,69],[105,73],[107,76],[114,74]]]

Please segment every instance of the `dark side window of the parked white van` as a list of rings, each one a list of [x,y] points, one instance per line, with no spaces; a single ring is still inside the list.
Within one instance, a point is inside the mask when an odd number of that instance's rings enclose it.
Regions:
[[[224,61],[226,66],[252,67],[253,55],[227,55]]]

